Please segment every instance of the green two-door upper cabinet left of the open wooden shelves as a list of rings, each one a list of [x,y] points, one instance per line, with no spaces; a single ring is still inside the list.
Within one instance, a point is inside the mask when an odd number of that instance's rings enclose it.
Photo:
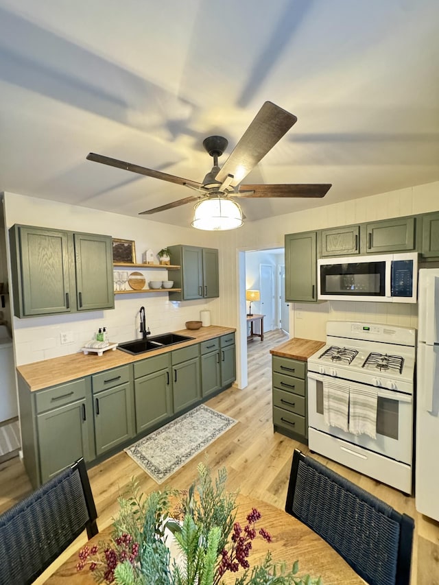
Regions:
[[[114,309],[110,236],[10,228],[14,315]]]

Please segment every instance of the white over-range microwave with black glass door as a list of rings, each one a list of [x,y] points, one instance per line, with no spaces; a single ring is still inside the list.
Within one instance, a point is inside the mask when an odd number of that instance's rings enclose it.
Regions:
[[[416,252],[324,258],[317,268],[319,299],[416,302]]]

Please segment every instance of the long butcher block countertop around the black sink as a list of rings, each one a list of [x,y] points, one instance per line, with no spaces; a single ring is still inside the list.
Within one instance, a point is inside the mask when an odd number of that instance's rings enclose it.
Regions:
[[[232,327],[220,327],[218,325],[210,325],[209,327],[202,327],[193,331],[192,329],[180,329],[180,331],[173,331],[180,335],[187,335],[193,339],[176,345],[167,346],[164,348],[148,351],[139,355],[130,355],[119,349],[114,351],[109,350],[103,355],[96,355],[88,353],[84,355],[81,353],[73,353],[71,355],[64,355],[62,357],[54,357],[53,359],[44,359],[43,361],[34,361],[33,363],[26,363],[23,366],[18,366],[16,369],[29,386],[29,390],[41,390],[56,384],[69,382],[77,378],[117,368],[117,366],[124,366],[126,363],[139,361],[140,359],[147,359],[154,355],[167,353],[168,351],[188,347],[193,344],[205,342],[213,337],[227,335],[234,333],[236,329]]]

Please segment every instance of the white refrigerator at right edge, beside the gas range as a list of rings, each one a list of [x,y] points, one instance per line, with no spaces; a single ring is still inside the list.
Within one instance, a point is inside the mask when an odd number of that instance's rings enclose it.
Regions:
[[[439,269],[418,278],[416,510],[439,521]]]

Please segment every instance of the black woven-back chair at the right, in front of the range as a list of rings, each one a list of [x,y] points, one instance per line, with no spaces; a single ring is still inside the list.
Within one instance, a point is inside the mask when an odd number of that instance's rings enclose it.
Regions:
[[[414,521],[294,451],[285,511],[326,540],[370,585],[408,585]]]

